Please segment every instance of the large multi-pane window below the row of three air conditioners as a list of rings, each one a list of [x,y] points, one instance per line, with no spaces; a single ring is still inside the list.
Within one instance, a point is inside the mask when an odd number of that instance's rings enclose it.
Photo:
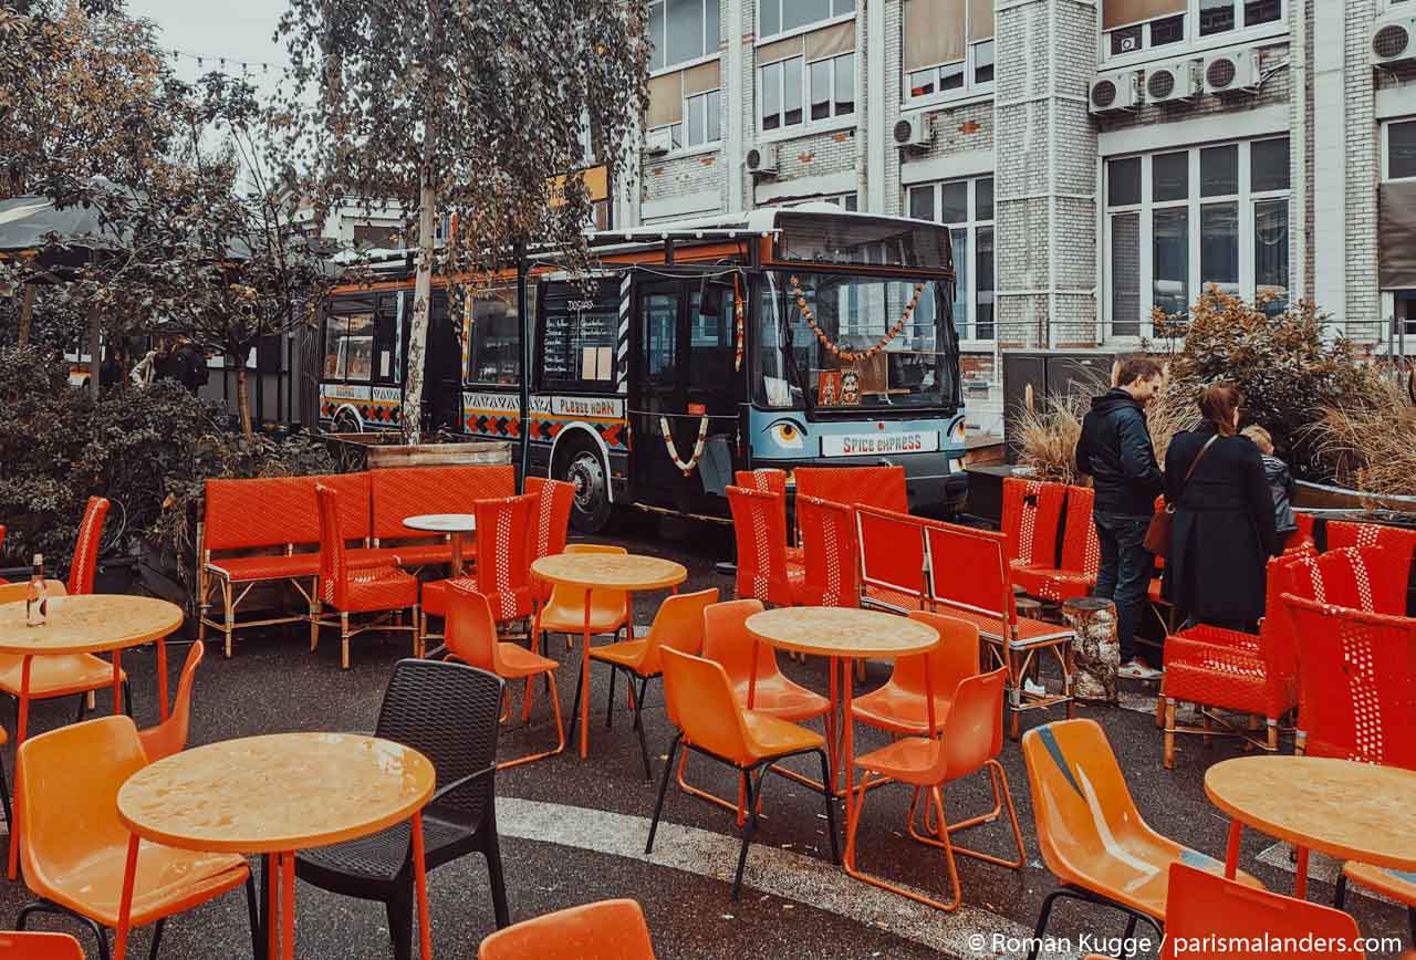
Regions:
[[[1211,285],[1286,310],[1289,177],[1287,137],[1107,160],[1112,336],[1141,336],[1153,309],[1188,316]]]

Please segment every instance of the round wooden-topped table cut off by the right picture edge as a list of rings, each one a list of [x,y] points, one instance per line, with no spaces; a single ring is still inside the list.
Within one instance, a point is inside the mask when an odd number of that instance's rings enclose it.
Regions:
[[[1320,756],[1243,756],[1205,772],[1205,796],[1231,817],[1231,879],[1245,825],[1297,847],[1298,899],[1307,893],[1310,850],[1416,871],[1416,772]]]

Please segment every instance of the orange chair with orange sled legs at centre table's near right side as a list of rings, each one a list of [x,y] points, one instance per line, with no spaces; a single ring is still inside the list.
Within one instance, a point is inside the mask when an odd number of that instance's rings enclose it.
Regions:
[[[1022,831],[1018,827],[1018,813],[1012,806],[1012,793],[1008,790],[1008,775],[1004,773],[1003,765],[998,763],[998,753],[1003,752],[1003,694],[1007,678],[1008,671],[1000,667],[991,674],[978,674],[960,681],[950,695],[952,705],[946,716],[944,735],[940,739],[906,736],[855,760],[855,766],[862,770],[862,775],[855,789],[855,801],[847,808],[847,874],[874,886],[932,906],[936,910],[956,910],[963,901],[963,892],[959,886],[959,869],[954,864],[956,854],[997,864],[998,867],[1022,869],[1024,859],[1027,858],[1027,852],[1022,848]],[[987,769],[988,782],[993,786],[993,811],[950,824],[944,817],[943,787],[953,780],[984,769]],[[888,779],[915,789],[915,797],[909,804],[909,835],[944,851],[949,886],[953,892],[952,899],[937,901],[855,868],[855,834],[861,825],[865,792],[874,786],[871,783],[872,776],[877,782]],[[915,810],[919,807],[919,796],[923,790],[929,792],[929,803],[933,807],[933,816],[937,823],[935,837],[922,835],[915,830]],[[1012,841],[1017,847],[1017,858],[1004,859],[993,854],[967,850],[954,845],[950,840],[950,834],[959,830],[997,820],[1004,804],[1007,804],[1008,820],[1012,824]],[[926,816],[926,821],[927,818]]]

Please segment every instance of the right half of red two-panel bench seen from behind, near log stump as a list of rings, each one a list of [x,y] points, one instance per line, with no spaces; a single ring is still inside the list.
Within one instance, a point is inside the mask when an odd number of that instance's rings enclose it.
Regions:
[[[1025,709],[1066,704],[1066,715],[1072,716],[1073,633],[1055,623],[1018,616],[1003,545],[1004,535],[993,531],[939,521],[925,525],[930,599],[940,612],[977,626],[997,664],[1008,668],[1010,736],[1017,738]],[[1032,675],[1044,654],[1058,664],[1061,692],[1024,690],[1024,678]]]

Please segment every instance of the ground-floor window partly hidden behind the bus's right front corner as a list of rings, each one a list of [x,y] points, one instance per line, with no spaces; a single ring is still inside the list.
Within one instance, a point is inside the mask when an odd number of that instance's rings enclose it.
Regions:
[[[915,219],[932,219],[949,227],[954,253],[953,316],[959,336],[964,340],[993,340],[997,336],[993,177],[910,187],[905,207]],[[926,304],[922,302],[923,309]]]

